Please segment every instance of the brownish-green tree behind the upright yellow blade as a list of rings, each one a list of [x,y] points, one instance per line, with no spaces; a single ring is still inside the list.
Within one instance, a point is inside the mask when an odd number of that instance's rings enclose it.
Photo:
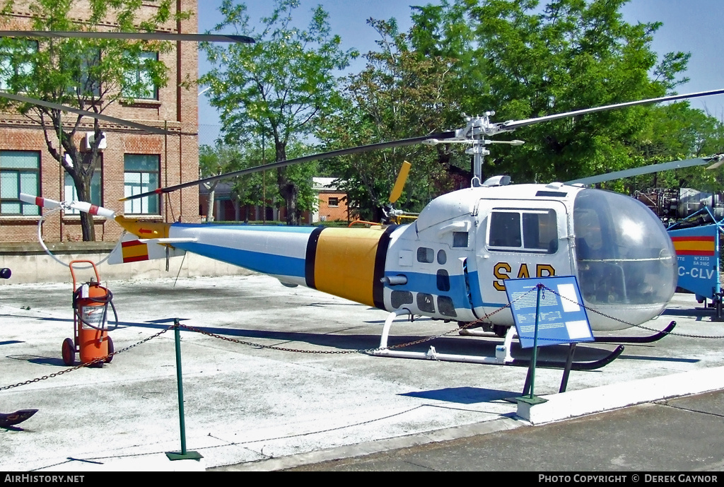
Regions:
[[[327,149],[382,143],[442,130],[460,117],[460,106],[447,98],[451,62],[443,56],[419,56],[410,37],[394,20],[368,20],[380,36],[380,49],[365,55],[363,72],[345,79],[345,109],[327,117],[319,135]],[[362,219],[379,221],[403,161],[413,166],[398,206],[419,211],[437,193],[452,189],[449,148],[431,151],[409,145],[340,158],[329,164],[348,194],[348,206]],[[443,164],[440,164],[443,163]]]

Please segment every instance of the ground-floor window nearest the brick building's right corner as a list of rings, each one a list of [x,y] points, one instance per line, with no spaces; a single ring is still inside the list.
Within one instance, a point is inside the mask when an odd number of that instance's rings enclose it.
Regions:
[[[159,187],[159,167],[161,156],[153,154],[125,154],[124,165],[124,194],[126,197],[139,195]],[[138,200],[125,202],[125,213],[158,215],[159,196],[146,196]]]

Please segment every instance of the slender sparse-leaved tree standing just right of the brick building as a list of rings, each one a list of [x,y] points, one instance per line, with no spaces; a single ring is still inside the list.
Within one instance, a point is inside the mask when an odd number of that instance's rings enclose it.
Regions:
[[[313,9],[306,30],[292,26],[297,0],[277,0],[270,17],[261,19],[261,33],[249,26],[245,4],[224,0],[224,20],[216,31],[232,28],[256,39],[251,46],[205,45],[214,69],[201,77],[209,85],[211,105],[221,110],[227,140],[243,135],[274,144],[274,160],[287,160],[287,145],[312,134],[319,117],[341,103],[335,69],[347,67],[354,51],[340,50],[331,35],[328,14]],[[258,145],[258,144],[257,144]],[[279,193],[285,200],[287,224],[298,224],[300,188],[290,177],[299,171],[277,169]]]

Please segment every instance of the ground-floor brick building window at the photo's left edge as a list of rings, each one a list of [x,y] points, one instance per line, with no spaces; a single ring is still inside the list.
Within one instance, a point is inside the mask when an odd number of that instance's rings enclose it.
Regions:
[[[20,193],[40,194],[41,155],[35,151],[0,151],[0,213],[39,215],[39,207],[20,201]]]

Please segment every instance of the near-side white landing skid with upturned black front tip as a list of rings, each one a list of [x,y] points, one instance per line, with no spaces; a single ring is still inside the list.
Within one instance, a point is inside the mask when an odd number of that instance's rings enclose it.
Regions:
[[[387,316],[382,329],[382,336],[379,341],[379,349],[372,352],[377,357],[396,357],[396,358],[414,358],[423,360],[443,360],[446,362],[463,362],[463,363],[481,363],[488,365],[513,365],[515,367],[528,367],[530,360],[513,358],[510,355],[510,347],[513,344],[513,338],[517,336],[515,327],[511,326],[505,335],[505,342],[495,347],[494,357],[479,357],[473,355],[454,355],[447,353],[438,353],[435,347],[430,347],[427,352],[403,352],[400,350],[390,350],[387,346],[387,339],[390,336],[390,328],[395,318],[402,315],[411,315],[410,310],[402,308],[395,310]],[[479,336],[479,335],[478,335]],[[489,336],[489,335],[487,335]],[[568,370],[594,370],[610,364],[623,352],[623,346],[619,346],[606,357],[594,362],[557,362],[555,360],[537,360],[536,364],[544,368],[562,368]]]

